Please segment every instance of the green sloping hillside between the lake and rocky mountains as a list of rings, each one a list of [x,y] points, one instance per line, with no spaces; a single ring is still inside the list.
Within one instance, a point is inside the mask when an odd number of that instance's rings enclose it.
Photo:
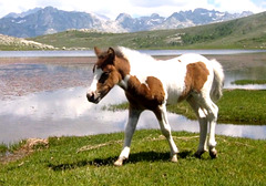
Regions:
[[[133,49],[266,49],[266,12],[186,29],[133,33],[69,30],[30,40],[57,48],[124,45]]]

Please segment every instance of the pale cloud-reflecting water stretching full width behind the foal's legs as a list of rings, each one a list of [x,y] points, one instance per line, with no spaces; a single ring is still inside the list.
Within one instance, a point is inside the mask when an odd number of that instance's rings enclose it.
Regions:
[[[85,87],[71,87],[0,101],[0,143],[27,137],[80,136],[123,131],[127,111],[113,113],[102,111],[101,107],[125,101],[124,93],[115,87],[95,105],[86,101],[85,92]],[[173,131],[198,132],[197,122],[171,113],[168,120]],[[144,112],[137,128],[158,128],[158,124],[151,112]],[[219,124],[216,132],[229,136],[266,138],[266,126]]]

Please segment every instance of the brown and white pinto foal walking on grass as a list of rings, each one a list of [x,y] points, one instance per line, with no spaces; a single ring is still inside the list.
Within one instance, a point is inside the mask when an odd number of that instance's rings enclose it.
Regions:
[[[224,82],[223,69],[218,62],[200,54],[184,54],[160,61],[122,46],[103,52],[94,48],[94,52],[98,61],[86,93],[88,100],[99,103],[114,85],[119,85],[130,102],[124,145],[114,165],[121,166],[129,158],[131,140],[144,110],[155,114],[162,133],[168,141],[171,161],[177,162],[178,149],[171,135],[166,104],[176,104],[183,100],[190,103],[200,122],[200,145],[195,155],[201,157],[209,151],[211,157],[216,157],[215,125],[218,107],[214,101],[222,96]]]

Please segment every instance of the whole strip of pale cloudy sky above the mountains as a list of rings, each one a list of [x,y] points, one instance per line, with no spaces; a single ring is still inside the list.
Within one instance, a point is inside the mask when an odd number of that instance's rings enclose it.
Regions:
[[[115,19],[120,13],[129,13],[134,18],[152,13],[168,17],[173,12],[196,8],[229,13],[266,11],[266,0],[0,0],[0,18],[10,12],[21,13],[48,6],[65,11],[103,14],[111,19]]]

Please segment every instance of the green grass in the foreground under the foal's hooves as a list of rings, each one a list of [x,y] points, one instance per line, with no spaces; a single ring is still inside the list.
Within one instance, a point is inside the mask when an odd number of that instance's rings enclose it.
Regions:
[[[174,132],[178,163],[155,130],[137,131],[130,159],[114,167],[123,133],[50,137],[49,148],[0,167],[0,185],[265,185],[266,142],[217,136],[218,157],[194,157],[198,134]],[[117,143],[119,142],[119,143]],[[105,144],[105,145],[104,145]],[[108,144],[108,145],[106,145]],[[76,153],[81,147],[92,149]],[[100,147],[101,145],[101,147]]]

